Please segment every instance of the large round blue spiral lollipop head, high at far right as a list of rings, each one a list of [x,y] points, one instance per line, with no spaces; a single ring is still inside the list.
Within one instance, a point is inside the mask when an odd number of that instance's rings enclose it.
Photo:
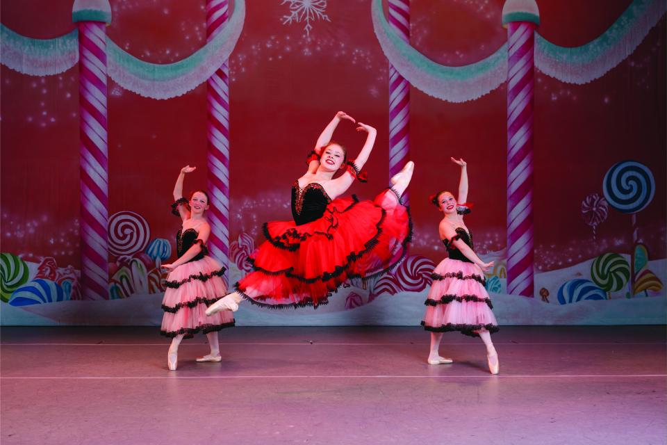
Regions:
[[[602,189],[611,207],[623,213],[637,213],[653,199],[655,179],[646,165],[623,161],[604,175]]]

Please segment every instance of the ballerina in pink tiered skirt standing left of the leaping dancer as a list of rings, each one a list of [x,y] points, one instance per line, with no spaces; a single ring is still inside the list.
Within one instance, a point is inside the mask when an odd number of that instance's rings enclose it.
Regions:
[[[195,191],[190,201],[183,197],[183,179],[186,173],[195,170],[190,165],[181,169],[174,186],[172,213],[180,216],[183,225],[176,234],[176,252],[179,259],[162,267],[170,270],[167,276],[167,291],[162,302],[165,315],[160,333],[172,337],[167,355],[167,366],[174,371],[178,361],[179,345],[183,339],[203,332],[208,338],[211,353],[197,358],[197,362],[220,362],[220,346],[217,331],[234,325],[231,312],[206,315],[206,308],[227,294],[227,286],[222,280],[224,267],[208,257],[206,240],[211,234],[211,226],[206,221],[208,194]]]

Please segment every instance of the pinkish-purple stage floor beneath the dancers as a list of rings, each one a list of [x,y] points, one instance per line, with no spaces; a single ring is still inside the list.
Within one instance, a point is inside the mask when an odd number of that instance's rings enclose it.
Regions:
[[[665,444],[666,327],[2,327],[2,444]]]

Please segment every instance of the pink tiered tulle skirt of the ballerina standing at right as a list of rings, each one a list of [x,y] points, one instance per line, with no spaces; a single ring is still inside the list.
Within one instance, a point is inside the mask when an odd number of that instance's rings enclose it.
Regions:
[[[459,331],[478,337],[477,331],[497,332],[484,273],[472,263],[443,259],[433,271],[433,284],[425,301],[422,325],[428,331]]]

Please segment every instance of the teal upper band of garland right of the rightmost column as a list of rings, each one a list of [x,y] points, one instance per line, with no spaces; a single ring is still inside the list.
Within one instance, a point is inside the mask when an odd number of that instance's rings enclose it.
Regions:
[[[627,35],[628,31],[633,28],[633,25],[652,6],[653,1],[659,1],[664,5],[664,0],[634,0],[623,11],[623,14],[616,19],[616,22],[609,26],[607,31],[604,31],[595,40],[591,40],[591,42],[583,44],[580,47],[559,47],[557,44],[553,44],[537,34],[535,36],[536,48],[545,56],[559,62],[567,62],[572,65],[591,63],[592,60],[600,57],[613,48],[614,45],[618,44]],[[662,13],[664,14],[664,6],[662,7]]]

